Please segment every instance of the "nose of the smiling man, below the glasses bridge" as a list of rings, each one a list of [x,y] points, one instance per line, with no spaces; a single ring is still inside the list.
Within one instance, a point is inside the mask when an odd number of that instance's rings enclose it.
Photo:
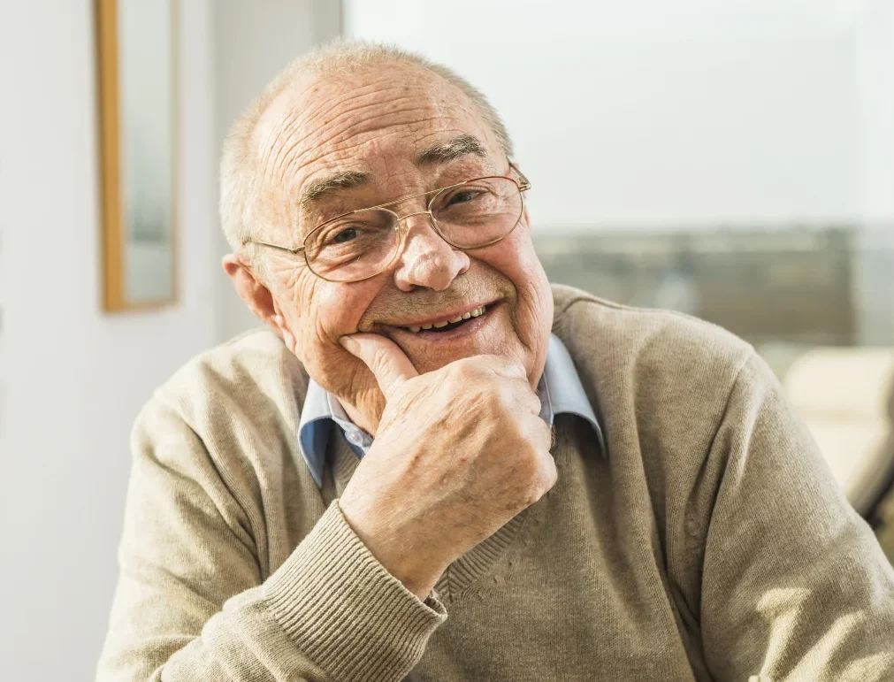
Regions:
[[[425,287],[443,291],[468,270],[466,252],[451,247],[435,232],[430,215],[413,214],[402,220],[406,231],[404,248],[394,270],[398,289],[411,291]]]

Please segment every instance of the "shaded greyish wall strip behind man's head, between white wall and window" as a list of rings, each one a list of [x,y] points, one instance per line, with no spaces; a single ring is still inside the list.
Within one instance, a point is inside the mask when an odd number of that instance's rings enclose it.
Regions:
[[[339,35],[337,0],[216,0],[215,136],[217,156],[232,122],[286,64]],[[217,252],[228,250],[223,233]],[[259,324],[229,282],[219,288],[219,333],[230,338]]]

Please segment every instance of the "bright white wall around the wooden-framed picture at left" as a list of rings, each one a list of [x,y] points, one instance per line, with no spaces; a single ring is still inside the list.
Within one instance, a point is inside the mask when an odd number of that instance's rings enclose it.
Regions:
[[[100,312],[93,3],[0,10],[0,647],[9,680],[89,680],[133,417],[216,341],[211,0],[181,2],[180,302]]]

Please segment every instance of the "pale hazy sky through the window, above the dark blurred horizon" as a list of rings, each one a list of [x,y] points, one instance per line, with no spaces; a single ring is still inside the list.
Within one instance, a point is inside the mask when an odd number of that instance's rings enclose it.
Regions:
[[[861,206],[864,4],[346,0],[345,29],[484,90],[535,227],[824,222]]]

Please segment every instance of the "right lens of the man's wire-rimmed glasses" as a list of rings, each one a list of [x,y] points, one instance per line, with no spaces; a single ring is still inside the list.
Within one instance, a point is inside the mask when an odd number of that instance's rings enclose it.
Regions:
[[[460,248],[485,246],[512,232],[521,219],[519,186],[507,178],[485,178],[444,189],[432,202],[443,236]]]

